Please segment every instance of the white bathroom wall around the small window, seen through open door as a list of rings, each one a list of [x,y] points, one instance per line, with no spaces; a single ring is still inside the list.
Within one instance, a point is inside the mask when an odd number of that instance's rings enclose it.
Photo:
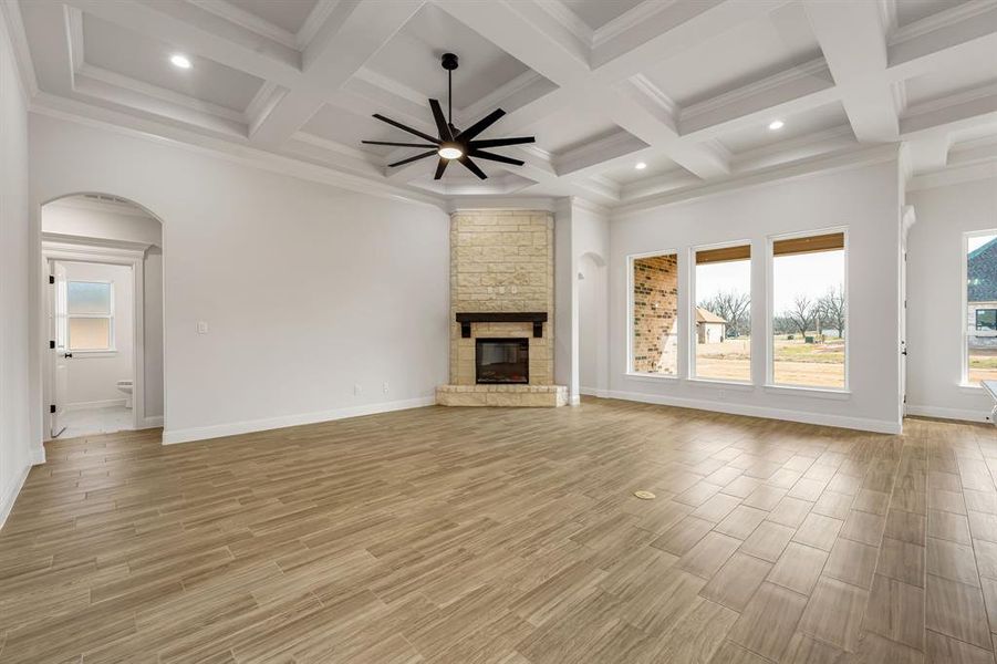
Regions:
[[[110,281],[114,293],[114,353],[73,351],[66,361],[66,403],[69,408],[111,405],[122,401],[116,383],[132,377],[133,317],[132,268],[101,263],[65,262],[67,281]]]

